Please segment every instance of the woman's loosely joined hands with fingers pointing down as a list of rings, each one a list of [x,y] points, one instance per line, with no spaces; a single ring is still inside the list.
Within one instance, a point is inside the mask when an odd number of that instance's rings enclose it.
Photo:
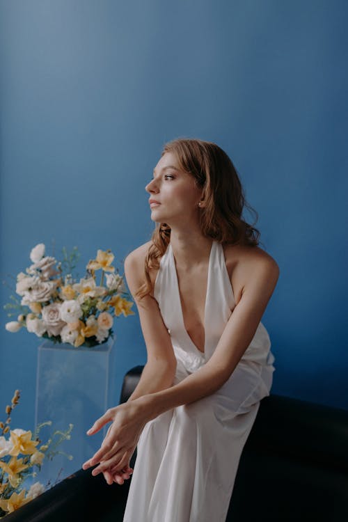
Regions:
[[[104,438],[100,450],[91,459],[86,461],[82,468],[85,470],[95,464],[100,464],[92,471],[92,475],[104,473],[108,484],[113,482],[123,483],[132,468],[129,461],[136,449],[141,432],[146,422],[150,419],[147,409],[143,407],[141,400],[133,400],[111,408],[97,419],[87,434],[97,433],[106,422],[112,421],[112,425]]]

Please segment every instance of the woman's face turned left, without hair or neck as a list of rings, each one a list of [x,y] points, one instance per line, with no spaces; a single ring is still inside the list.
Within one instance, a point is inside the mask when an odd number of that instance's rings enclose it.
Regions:
[[[152,221],[187,224],[198,219],[198,202],[203,189],[197,187],[193,176],[180,170],[175,156],[166,152],[154,170],[153,180],[145,187],[150,193],[149,203]]]

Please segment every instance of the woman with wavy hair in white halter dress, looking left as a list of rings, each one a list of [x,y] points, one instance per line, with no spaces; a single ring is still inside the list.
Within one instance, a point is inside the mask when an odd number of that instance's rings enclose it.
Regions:
[[[112,421],[83,467],[99,464],[93,475],[123,484],[137,446],[125,522],[223,522],[271,389],[274,356],[260,319],[279,269],[242,219],[239,177],[214,143],[167,143],[145,189],[157,226],[127,256],[125,276],[148,361],[128,402],[89,430]]]

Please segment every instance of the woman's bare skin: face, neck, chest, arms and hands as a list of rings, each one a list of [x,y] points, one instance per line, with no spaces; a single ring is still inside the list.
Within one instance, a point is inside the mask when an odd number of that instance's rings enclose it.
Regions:
[[[151,219],[171,227],[184,325],[193,343],[203,351],[207,269],[212,246],[212,239],[202,235],[198,221],[204,206],[203,190],[196,186],[191,175],[180,170],[170,152],[159,159],[154,177],[145,189],[150,194]],[[149,246],[150,242],[136,248],[125,260],[125,276],[133,296],[143,282]],[[175,386],[176,360],[157,301],[150,295],[141,301],[135,299],[148,361],[128,402],[106,411],[88,432],[95,434],[112,422],[100,450],[83,465],[87,469],[99,464],[92,474],[103,473],[108,484],[122,484],[129,478],[132,473],[129,461],[147,422],[221,388],[250,345],[274,292],[279,268],[259,247],[229,245],[224,246],[224,254],[236,306],[209,361]],[[156,275],[157,270],[152,269],[152,285]]]

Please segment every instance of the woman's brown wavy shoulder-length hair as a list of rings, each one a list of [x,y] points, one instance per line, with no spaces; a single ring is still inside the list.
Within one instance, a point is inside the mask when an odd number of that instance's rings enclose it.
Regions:
[[[180,169],[193,176],[198,187],[203,188],[205,202],[200,207],[200,229],[205,237],[223,244],[257,246],[260,232],[242,219],[244,207],[258,213],[248,205],[239,175],[230,157],[218,145],[198,139],[175,139],[164,145],[161,156],[171,152]],[[150,269],[158,269],[162,255],[171,239],[171,228],[166,223],[156,223],[152,244],[145,256],[145,282],[136,292],[141,299],[152,294]]]

